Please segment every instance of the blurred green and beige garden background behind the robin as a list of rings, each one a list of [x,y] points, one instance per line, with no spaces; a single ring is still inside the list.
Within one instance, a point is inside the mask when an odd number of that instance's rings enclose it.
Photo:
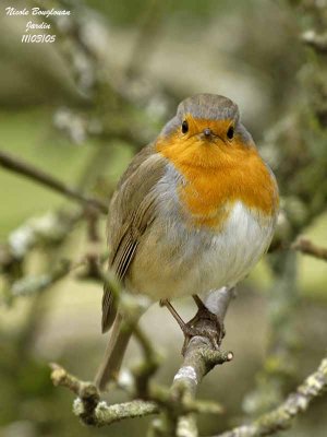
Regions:
[[[323,63],[300,42],[300,33],[317,22],[305,4],[301,9],[300,1],[45,0],[45,8],[72,11],[70,20],[52,23],[57,40],[50,45],[22,44],[26,19],[7,16],[7,3],[22,8],[19,1],[1,3],[1,151],[108,202],[132,155],[156,137],[173,116],[178,102],[193,93],[213,92],[239,104],[244,123],[275,165],[277,177],[281,174],[281,194],[286,201],[296,196],[283,168],[278,168],[287,164],[279,163],[276,168],[276,151],[272,147],[271,152],[269,143],[274,142],[270,138],[279,138],[289,119],[298,116],[299,108],[311,104],[305,97],[312,85],[307,71],[324,71]],[[312,119],[307,126],[316,129]],[[325,141],[326,129],[320,128]],[[292,143],[287,141],[281,135],[280,142],[274,142],[275,149],[291,150]],[[326,142],[323,144],[326,149]],[[315,160],[318,157],[314,155],[312,165]],[[289,174],[295,174],[296,162],[288,165]],[[2,169],[0,193],[3,245],[31,217],[77,209],[62,196]],[[319,244],[327,241],[323,210],[319,208],[307,221],[308,226],[305,223],[300,229]],[[104,222],[99,223],[100,251],[105,250]],[[33,248],[24,261],[24,274],[51,270],[64,257],[78,259],[89,245],[85,234],[85,224],[78,223],[63,243]],[[235,358],[208,375],[199,390],[202,398],[221,402],[226,413],[221,417],[201,416],[201,435],[217,434],[242,423],[245,414],[251,417],[261,411],[254,392],[263,390],[262,381],[270,371],[266,358],[274,350],[274,257],[268,256],[271,259],[263,261],[240,285],[239,297],[228,314],[223,345]],[[291,328],[286,328],[292,336],[288,350],[292,369],[287,378],[282,375],[282,387],[274,387],[264,406],[274,406],[278,395],[284,395],[313,371],[326,352],[326,265],[298,255],[294,269],[296,297]],[[106,343],[100,334],[101,286],[70,275],[37,296],[12,299],[13,283],[8,272],[0,285],[0,435],[145,435],[148,418],[104,429],[81,425],[71,412],[71,393],[53,388],[49,379],[49,362],[64,365],[82,379],[93,378]],[[185,319],[195,311],[190,300],[175,303]],[[142,326],[165,357],[156,378],[169,385],[181,361],[181,332],[158,306],[144,316]],[[138,358],[132,342],[124,363],[130,366]],[[270,389],[264,391],[269,394]],[[107,399],[116,402],[126,398],[114,391]],[[318,400],[284,435],[326,436],[326,399]]]

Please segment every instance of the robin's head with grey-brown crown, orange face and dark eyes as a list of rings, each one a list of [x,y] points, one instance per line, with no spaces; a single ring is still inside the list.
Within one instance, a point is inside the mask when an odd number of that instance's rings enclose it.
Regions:
[[[157,150],[167,157],[201,166],[217,166],[253,147],[238,105],[215,94],[197,94],[183,101],[157,140]]]

